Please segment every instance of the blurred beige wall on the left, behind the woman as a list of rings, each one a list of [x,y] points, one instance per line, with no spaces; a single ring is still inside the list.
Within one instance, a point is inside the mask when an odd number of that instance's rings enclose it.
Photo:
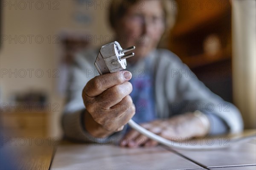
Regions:
[[[49,73],[47,72],[50,69],[53,73],[54,69],[58,69],[59,45],[53,43],[56,38],[53,36],[59,34],[61,30],[75,30],[75,32],[86,32],[92,35],[97,34],[98,37],[101,34],[109,34],[110,29],[106,21],[107,10],[105,10],[103,4],[102,6],[97,6],[97,10],[94,9],[94,6],[86,9],[86,6],[77,5],[73,0],[59,0],[58,3],[51,1],[50,7],[49,1],[34,1],[31,9],[29,3],[26,3],[26,8],[24,8],[24,4],[20,3],[20,1],[12,1],[12,4],[16,3],[14,6],[10,6],[6,2],[10,3],[10,1],[4,1],[5,4],[3,4],[2,38],[6,38],[6,36],[15,37],[17,35],[17,43],[15,43],[15,40],[12,40],[10,43],[9,40],[3,40],[0,51],[0,68],[2,71],[3,69],[8,71],[9,69],[11,71],[17,69],[17,73],[20,71],[21,76],[24,73],[21,69],[25,69],[27,76],[21,78],[19,74],[17,77],[14,74],[11,77],[8,74],[2,75],[0,81],[1,102],[8,103],[10,96],[14,92],[35,89],[45,91],[49,95],[49,102],[52,104],[58,103],[61,107],[63,96],[56,92],[58,78],[52,78],[52,75],[49,78]],[[41,8],[41,4],[44,7],[41,10],[37,9]],[[53,10],[54,7],[56,7],[55,10]],[[100,7],[103,7],[102,10]],[[81,24],[76,22],[73,16],[77,12],[90,15],[92,23]],[[29,42],[29,35],[34,36],[31,43]],[[52,38],[50,42],[48,42],[49,35]],[[27,38],[24,44],[22,44],[24,41],[22,36]],[[41,44],[36,42],[36,36],[39,36],[38,41],[41,41],[40,37],[44,38]],[[97,41],[96,44],[93,43],[92,45],[96,46],[99,44],[100,41]],[[34,69],[31,77],[29,77],[27,69]],[[35,75],[37,69],[41,69],[44,73],[41,78],[37,77],[40,76],[40,71]],[[50,119],[51,123],[49,126],[51,128],[49,129],[51,135],[56,135],[59,130],[59,127],[56,125],[61,108],[59,110],[59,112],[53,113],[53,117]]]

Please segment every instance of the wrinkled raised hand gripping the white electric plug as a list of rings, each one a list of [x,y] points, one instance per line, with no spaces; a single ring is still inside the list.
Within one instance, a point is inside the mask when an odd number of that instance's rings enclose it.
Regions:
[[[84,87],[85,128],[96,137],[120,131],[134,116],[129,71],[104,74],[91,79]]]

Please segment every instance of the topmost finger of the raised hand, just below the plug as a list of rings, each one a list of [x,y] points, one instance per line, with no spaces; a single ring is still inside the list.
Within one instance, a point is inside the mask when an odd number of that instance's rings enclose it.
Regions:
[[[89,97],[95,97],[114,85],[120,85],[131,79],[131,72],[117,71],[115,73],[103,74],[91,79],[84,87],[84,93]]]

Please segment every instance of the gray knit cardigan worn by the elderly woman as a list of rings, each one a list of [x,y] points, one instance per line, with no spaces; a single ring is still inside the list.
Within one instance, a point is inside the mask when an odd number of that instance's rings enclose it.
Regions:
[[[90,79],[99,75],[94,67],[97,53],[98,51],[87,50],[77,54],[70,68],[68,101],[62,116],[64,134],[70,139],[83,142],[105,142],[105,139],[90,136],[84,129],[82,121],[85,107],[81,92]],[[146,66],[152,69],[156,101],[155,113],[159,119],[199,110],[209,118],[209,135],[225,132],[238,133],[243,129],[239,110],[213,94],[171,51],[155,49],[147,58],[149,63],[145,64],[142,59],[132,67],[133,70],[129,69],[128,63],[127,70],[138,73],[138,70],[141,71]],[[120,139],[125,129],[113,133],[108,138]]]

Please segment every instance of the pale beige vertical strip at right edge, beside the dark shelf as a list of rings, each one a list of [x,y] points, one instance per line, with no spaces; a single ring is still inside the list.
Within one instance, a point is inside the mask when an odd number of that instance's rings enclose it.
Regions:
[[[256,1],[232,1],[233,96],[245,128],[256,128]]]

